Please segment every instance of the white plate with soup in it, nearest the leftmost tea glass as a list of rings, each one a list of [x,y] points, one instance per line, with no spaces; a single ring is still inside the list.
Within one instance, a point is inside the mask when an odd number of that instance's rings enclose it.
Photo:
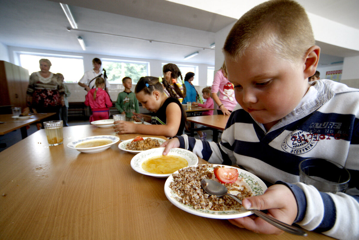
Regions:
[[[77,139],[67,144],[68,148],[84,153],[102,152],[120,140],[112,135],[99,135]]]

